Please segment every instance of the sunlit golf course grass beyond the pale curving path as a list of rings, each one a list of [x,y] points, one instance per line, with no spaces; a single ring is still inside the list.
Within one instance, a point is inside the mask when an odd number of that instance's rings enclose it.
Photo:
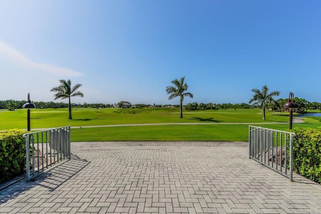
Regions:
[[[228,123],[228,122],[264,122],[260,109],[228,109],[218,111],[184,112],[184,118],[179,118],[177,108],[74,108],[73,120],[68,120],[68,109],[32,109],[31,128],[49,128],[58,126],[91,126],[110,124],[136,123]],[[0,130],[11,128],[26,128],[27,111],[0,112]],[[267,113],[265,122],[286,122],[286,117]]]

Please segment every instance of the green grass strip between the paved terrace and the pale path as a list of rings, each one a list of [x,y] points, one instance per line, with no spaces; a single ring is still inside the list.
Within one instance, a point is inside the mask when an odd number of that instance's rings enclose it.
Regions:
[[[248,125],[151,125],[71,130],[72,141],[246,141]]]

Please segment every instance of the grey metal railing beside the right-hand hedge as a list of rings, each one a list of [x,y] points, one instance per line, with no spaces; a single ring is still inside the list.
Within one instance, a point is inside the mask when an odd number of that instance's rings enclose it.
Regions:
[[[249,126],[249,158],[293,180],[294,133]]]

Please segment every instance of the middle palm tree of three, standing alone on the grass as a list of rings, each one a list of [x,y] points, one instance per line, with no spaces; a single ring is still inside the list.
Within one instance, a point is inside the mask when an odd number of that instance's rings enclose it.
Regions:
[[[175,97],[180,97],[180,118],[183,118],[183,101],[184,97],[193,98],[193,94],[186,92],[188,89],[188,85],[184,83],[185,77],[182,77],[180,80],[175,79],[172,81],[174,86],[167,86],[166,92],[167,94],[171,94],[169,100],[172,100]]]

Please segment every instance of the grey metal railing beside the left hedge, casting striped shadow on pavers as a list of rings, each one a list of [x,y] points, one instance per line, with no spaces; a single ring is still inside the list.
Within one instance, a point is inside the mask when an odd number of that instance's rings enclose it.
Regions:
[[[70,159],[70,126],[31,132],[26,137],[27,181],[45,169]]]

